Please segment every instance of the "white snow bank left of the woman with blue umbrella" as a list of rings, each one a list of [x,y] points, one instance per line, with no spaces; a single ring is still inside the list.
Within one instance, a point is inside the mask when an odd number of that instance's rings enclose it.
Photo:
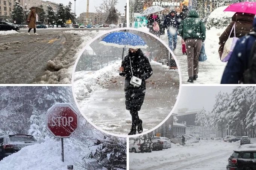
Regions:
[[[111,77],[119,75],[120,61],[97,71],[78,71],[74,74],[74,89],[76,98],[88,98],[91,92],[103,90],[106,83],[116,83]]]

